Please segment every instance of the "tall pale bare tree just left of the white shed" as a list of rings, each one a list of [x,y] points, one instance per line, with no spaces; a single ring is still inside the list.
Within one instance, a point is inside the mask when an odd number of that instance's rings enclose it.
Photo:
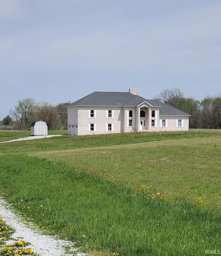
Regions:
[[[12,119],[19,124],[19,128],[27,128],[29,120],[31,118],[31,109],[35,105],[33,98],[23,98],[18,100],[18,104],[15,109],[10,109],[9,113]]]

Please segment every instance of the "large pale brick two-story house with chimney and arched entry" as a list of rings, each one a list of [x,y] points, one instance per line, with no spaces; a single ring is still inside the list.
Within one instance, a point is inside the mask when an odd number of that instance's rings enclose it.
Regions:
[[[68,135],[186,131],[190,115],[129,92],[93,92],[67,106]]]

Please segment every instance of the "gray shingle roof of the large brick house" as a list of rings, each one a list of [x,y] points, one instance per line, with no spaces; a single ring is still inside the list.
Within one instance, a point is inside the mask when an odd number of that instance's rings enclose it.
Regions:
[[[146,101],[152,106],[160,106],[161,116],[190,116],[179,109],[173,108],[159,100],[147,100],[129,92],[93,92],[71,104],[72,106],[139,106]]]

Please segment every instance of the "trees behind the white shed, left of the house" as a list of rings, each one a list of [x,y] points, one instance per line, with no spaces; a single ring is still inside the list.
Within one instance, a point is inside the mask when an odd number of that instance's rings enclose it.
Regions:
[[[33,98],[18,100],[9,115],[3,118],[3,125],[13,125],[13,129],[30,129],[36,120],[45,121],[49,130],[67,129],[67,108],[69,103],[59,103],[56,106],[48,102],[36,103]]]

